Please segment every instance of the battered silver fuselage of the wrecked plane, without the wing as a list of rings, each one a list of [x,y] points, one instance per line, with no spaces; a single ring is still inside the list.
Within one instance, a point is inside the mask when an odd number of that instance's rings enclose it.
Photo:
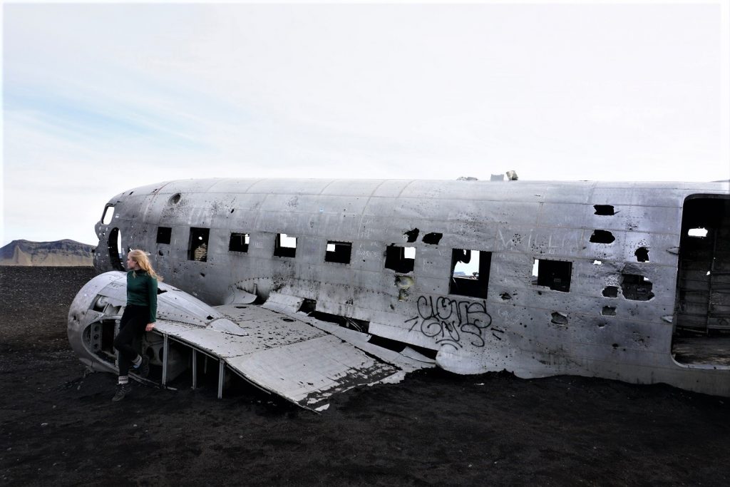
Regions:
[[[699,210],[683,213],[693,199]],[[96,225],[95,263],[108,270],[118,252],[143,248],[167,282],[208,304],[293,296],[432,350],[453,372],[588,375],[730,395],[728,367],[672,358],[677,317],[700,326],[689,321],[702,302],[677,292],[695,291],[682,283],[699,283],[698,269],[715,273],[702,326],[728,320],[728,254],[708,246],[699,265],[680,264],[695,262],[687,226],[724,235],[729,201],[727,182],[170,181],[110,200],[114,218]],[[724,220],[704,216],[718,211]],[[167,241],[160,229],[169,229]],[[231,250],[234,233],[249,237],[245,251]],[[193,245],[200,234],[204,261]],[[274,255],[280,234],[296,237],[293,257]],[[350,243],[350,261],[326,261],[328,242]],[[415,258],[389,266],[393,247]],[[485,297],[454,292],[457,250],[491,259]]]

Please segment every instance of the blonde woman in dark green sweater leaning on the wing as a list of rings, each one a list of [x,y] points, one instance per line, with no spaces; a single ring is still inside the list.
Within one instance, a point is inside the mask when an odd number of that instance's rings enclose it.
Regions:
[[[142,250],[130,250],[127,254],[127,305],[124,307],[119,333],[114,339],[114,348],[119,356],[119,380],[117,393],[112,401],[117,402],[131,392],[129,368],[140,377],[150,372],[150,359],[141,356],[134,349],[134,342],[145,331],[152,331],[157,321],[157,283],[162,280]]]

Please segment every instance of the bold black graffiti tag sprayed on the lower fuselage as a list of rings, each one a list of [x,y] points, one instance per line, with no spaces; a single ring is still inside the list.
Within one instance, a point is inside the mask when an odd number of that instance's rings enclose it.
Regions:
[[[418,315],[405,321],[413,322],[409,331],[420,326],[420,332],[436,339],[439,345],[458,349],[464,347],[462,340],[469,340],[471,345],[483,347],[486,331],[502,340],[504,330],[493,326],[486,302],[456,301],[447,297],[438,297],[434,301],[432,296],[420,296],[417,306]]]

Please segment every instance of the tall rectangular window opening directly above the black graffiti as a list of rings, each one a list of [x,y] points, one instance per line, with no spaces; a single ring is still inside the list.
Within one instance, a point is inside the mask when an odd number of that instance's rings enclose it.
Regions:
[[[486,298],[492,253],[485,250],[451,250],[449,294]]]

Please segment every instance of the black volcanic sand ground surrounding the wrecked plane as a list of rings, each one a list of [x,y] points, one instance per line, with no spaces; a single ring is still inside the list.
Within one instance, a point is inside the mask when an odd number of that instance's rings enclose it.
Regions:
[[[323,415],[85,375],[66,314],[90,268],[0,267],[1,485],[730,485],[730,400],[431,370]]]

